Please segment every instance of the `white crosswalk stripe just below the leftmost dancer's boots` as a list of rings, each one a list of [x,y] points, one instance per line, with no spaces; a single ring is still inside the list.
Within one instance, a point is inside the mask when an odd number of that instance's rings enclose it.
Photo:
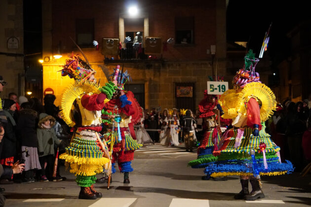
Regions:
[[[129,207],[137,198],[101,198],[89,207]]]

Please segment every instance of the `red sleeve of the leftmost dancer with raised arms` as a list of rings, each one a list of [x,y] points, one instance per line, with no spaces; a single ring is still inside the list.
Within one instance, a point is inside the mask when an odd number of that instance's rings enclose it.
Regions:
[[[103,109],[105,99],[106,95],[103,93],[94,95],[85,94],[81,98],[81,104],[89,111],[99,111]]]

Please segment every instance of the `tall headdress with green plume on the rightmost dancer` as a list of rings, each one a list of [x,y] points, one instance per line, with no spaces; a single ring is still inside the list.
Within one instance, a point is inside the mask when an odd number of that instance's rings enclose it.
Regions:
[[[245,65],[243,69],[236,72],[233,78],[233,85],[243,88],[246,84],[251,82],[261,83],[260,76],[258,72],[255,72],[255,67],[259,61],[255,58],[253,50],[249,50],[247,55],[244,57]]]

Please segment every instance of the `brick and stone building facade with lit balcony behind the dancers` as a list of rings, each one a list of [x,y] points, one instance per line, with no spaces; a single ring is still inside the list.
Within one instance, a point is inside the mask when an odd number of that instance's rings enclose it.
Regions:
[[[112,73],[116,65],[121,65],[132,77],[132,82],[127,87],[142,86],[137,92],[142,93],[142,96],[137,98],[145,108],[161,106],[162,109],[194,109],[203,98],[208,76],[213,74],[212,68],[217,68],[218,75],[226,76],[226,0],[195,0],[191,4],[186,0],[170,3],[165,0],[139,0],[137,5],[140,10],[138,16],[130,17],[126,13],[129,5],[122,0],[77,0],[75,3],[67,0],[42,0],[43,90],[54,90],[56,105],[60,104],[64,87],[73,82],[69,77],[61,77],[57,71],[61,69],[68,54],[79,52],[70,37],[79,41],[78,31],[81,25],[77,23],[81,19],[93,24],[93,31],[88,35],[93,35],[99,42],[98,51],[91,45],[84,45],[82,50],[97,70],[96,78],[101,79],[101,85],[107,81],[107,74]],[[135,18],[141,23],[131,24]],[[189,26],[192,27],[192,41],[188,44],[176,42],[176,28],[183,25],[177,23],[180,19],[184,19],[185,24],[188,24],[187,19],[193,20]],[[123,41],[127,32],[137,31],[142,32],[143,37],[161,37],[162,54],[140,60],[123,60],[119,56],[101,54],[103,37]],[[168,38],[174,38],[175,43],[165,43]],[[216,45],[213,67],[211,45]],[[125,47],[125,44],[122,46]],[[53,59],[58,51],[63,57]],[[114,60],[111,60],[112,57]],[[193,87],[193,95],[188,99],[192,105],[181,104],[188,101],[176,97],[178,86]]]

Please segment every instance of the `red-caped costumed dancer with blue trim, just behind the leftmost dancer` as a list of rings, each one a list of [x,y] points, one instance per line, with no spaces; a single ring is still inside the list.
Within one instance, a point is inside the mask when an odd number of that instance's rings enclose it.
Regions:
[[[131,161],[134,159],[134,150],[143,146],[136,142],[134,132],[134,125],[140,121],[143,111],[134,94],[123,90],[123,84],[127,79],[127,71],[120,72],[117,66],[113,78],[117,91],[103,107],[103,112],[110,114],[114,126],[107,141],[112,152],[112,173],[116,172],[114,167],[117,162],[120,172],[124,173],[123,183],[130,183],[129,173],[133,171]],[[100,179],[106,180],[107,177]]]

